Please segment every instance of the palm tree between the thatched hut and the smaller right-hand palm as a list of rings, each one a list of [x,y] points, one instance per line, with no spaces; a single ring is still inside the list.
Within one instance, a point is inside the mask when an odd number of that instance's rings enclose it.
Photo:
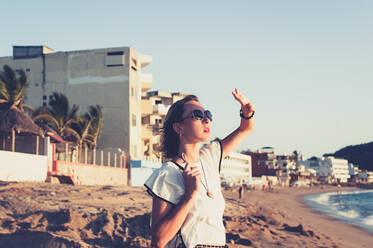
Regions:
[[[70,108],[68,98],[58,92],[53,92],[49,100],[49,107],[41,107],[35,111],[32,118],[38,124],[44,124],[52,128],[64,139],[78,137],[79,134],[71,125],[77,120],[78,105]]]

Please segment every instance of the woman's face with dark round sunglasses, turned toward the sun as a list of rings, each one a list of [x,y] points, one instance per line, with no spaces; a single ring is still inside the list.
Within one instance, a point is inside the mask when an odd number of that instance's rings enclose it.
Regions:
[[[200,110],[203,118],[194,115],[194,111]],[[180,122],[180,139],[186,143],[208,142],[210,140],[210,122],[206,117],[205,109],[197,101],[189,101],[184,104],[184,113]]]

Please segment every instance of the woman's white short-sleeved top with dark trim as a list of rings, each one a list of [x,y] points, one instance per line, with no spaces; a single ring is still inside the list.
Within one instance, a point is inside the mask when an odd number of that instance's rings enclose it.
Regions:
[[[219,167],[222,149],[219,141],[214,141],[200,149],[200,162],[196,163],[201,172],[199,192],[181,226],[181,237],[187,248],[197,244],[225,245],[225,228],[223,213],[225,202],[220,188]],[[202,165],[201,165],[202,164]],[[165,162],[146,180],[148,192],[162,200],[177,205],[185,193],[182,170],[185,165]],[[206,180],[201,168],[203,166],[209,191],[213,198],[207,196]],[[175,247],[177,235],[166,245]]]

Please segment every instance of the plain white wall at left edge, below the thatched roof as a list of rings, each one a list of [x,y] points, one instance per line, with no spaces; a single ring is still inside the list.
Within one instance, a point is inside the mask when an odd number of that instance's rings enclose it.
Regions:
[[[0,150],[0,180],[44,182],[47,170],[46,156]]]

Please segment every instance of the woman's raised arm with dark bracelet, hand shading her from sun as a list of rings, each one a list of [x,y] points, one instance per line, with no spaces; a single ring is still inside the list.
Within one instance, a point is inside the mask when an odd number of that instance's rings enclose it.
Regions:
[[[237,89],[235,89],[232,94],[241,104],[241,109],[245,117],[254,114],[254,105],[250,103],[244,95],[242,95]],[[245,120],[241,118],[240,126],[221,141],[223,150],[222,157],[226,157],[231,151],[233,151],[253,130],[254,119],[250,118],[249,120]]]

